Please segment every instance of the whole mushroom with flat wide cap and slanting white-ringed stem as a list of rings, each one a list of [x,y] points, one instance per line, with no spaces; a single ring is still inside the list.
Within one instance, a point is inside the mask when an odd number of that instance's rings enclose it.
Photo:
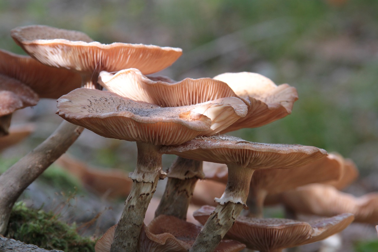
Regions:
[[[241,138],[219,135],[197,137],[177,146],[164,146],[163,154],[188,159],[225,163],[228,181],[219,204],[206,222],[190,251],[212,251],[246,208],[249,185],[254,170],[295,168],[327,155],[323,149],[302,145],[251,143]]]

